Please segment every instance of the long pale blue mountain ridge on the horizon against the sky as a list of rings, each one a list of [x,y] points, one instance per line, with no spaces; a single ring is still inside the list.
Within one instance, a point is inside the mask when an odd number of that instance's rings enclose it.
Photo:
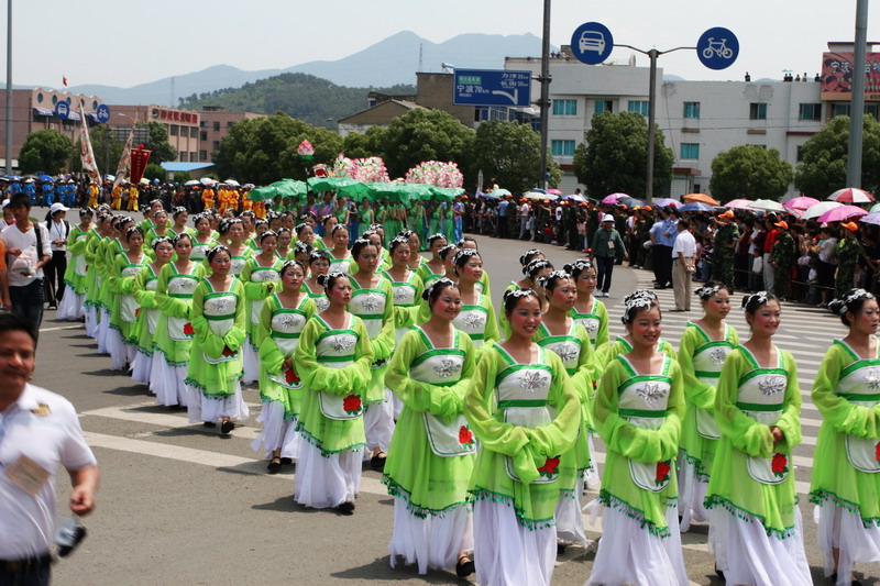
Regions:
[[[216,65],[200,71],[165,77],[131,88],[82,85],[66,89],[75,93],[100,96],[103,101],[111,104],[177,106],[180,97],[241,87],[284,73],[310,74],[328,79],[337,86],[350,88],[391,87],[398,84],[415,84],[416,70],[419,68],[419,48],[422,52],[424,71],[440,71],[443,63],[462,68],[503,69],[505,57],[539,56],[541,40],[530,33],[519,35],[471,33],[460,34],[443,43],[433,43],[416,33],[404,31],[337,60],[316,60],[285,69],[255,71],[245,71],[230,65]]]

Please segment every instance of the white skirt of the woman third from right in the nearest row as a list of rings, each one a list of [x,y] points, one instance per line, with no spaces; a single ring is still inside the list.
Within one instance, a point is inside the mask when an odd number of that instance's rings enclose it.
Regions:
[[[688,586],[681,535],[675,531],[678,520],[678,508],[668,507],[666,521],[671,534],[660,538],[641,528],[626,510],[605,507],[602,539],[587,586]]]

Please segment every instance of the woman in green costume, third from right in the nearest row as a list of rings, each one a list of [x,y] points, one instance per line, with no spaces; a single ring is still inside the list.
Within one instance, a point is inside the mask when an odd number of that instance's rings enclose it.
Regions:
[[[632,340],[602,375],[593,419],[605,441],[602,540],[587,585],[688,586],[678,521],[675,455],[684,414],[678,363],[657,347],[657,299],[626,299]],[[637,291],[638,294],[638,291]]]

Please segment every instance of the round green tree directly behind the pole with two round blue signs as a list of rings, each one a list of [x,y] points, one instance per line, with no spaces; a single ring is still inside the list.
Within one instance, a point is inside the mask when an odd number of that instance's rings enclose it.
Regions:
[[[648,123],[637,112],[594,114],[586,142],[574,151],[574,174],[596,198],[619,191],[632,197],[645,195],[648,166]],[[653,192],[667,194],[672,183],[672,150],[656,128]]]

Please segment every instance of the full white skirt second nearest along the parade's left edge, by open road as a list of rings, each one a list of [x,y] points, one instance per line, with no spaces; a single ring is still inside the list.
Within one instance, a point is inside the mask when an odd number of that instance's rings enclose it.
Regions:
[[[354,502],[354,497],[361,490],[361,452],[363,447],[324,457],[320,450],[304,440],[296,465],[294,500],[314,509]]]

